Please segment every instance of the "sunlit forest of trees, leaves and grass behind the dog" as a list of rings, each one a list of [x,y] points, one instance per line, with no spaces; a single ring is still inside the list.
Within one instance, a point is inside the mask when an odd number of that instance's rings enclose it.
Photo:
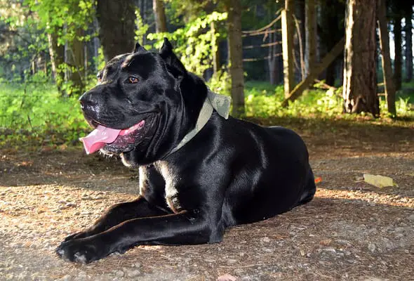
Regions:
[[[0,0],[0,144],[77,143],[98,70],[163,37],[234,116],[410,123],[412,20],[403,0]]]

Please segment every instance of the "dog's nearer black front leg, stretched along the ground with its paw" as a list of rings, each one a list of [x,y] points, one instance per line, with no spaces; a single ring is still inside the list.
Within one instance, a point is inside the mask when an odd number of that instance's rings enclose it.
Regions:
[[[218,242],[224,229],[199,214],[178,214],[124,221],[97,235],[62,242],[56,252],[63,259],[90,263],[138,244],[203,244]]]

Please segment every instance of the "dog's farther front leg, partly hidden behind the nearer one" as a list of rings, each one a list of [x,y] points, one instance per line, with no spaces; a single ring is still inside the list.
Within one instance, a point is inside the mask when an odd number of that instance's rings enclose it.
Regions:
[[[65,238],[65,241],[84,238],[92,236],[98,233],[102,233],[113,226],[119,225],[123,221],[131,220],[132,218],[143,218],[146,216],[162,216],[168,214],[163,211],[161,207],[156,207],[149,204],[144,197],[140,196],[136,200],[131,202],[122,202],[114,204],[112,207],[105,211],[95,223],[89,228],[74,233]]]

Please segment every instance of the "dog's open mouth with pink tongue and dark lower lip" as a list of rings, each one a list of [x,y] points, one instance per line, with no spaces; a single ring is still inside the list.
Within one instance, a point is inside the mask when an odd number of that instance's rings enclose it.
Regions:
[[[145,135],[142,130],[144,127],[145,120],[141,120],[127,129],[112,129],[98,125],[88,136],[80,138],[80,140],[84,143],[86,154],[91,154],[101,148],[109,151],[131,150],[142,135]]]

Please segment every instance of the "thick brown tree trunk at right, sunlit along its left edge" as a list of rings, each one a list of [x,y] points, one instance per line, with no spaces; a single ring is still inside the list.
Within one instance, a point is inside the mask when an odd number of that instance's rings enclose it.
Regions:
[[[376,0],[347,0],[344,112],[380,115],[375,68]]]

